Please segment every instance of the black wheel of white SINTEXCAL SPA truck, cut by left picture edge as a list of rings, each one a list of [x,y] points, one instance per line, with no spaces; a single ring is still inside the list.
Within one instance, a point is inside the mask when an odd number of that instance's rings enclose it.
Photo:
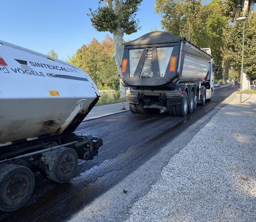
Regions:
[[[27,167],[4,164],[0,166],[0,175],[0,210],[10,212],[21,208],[33,192],[33,173]]]

